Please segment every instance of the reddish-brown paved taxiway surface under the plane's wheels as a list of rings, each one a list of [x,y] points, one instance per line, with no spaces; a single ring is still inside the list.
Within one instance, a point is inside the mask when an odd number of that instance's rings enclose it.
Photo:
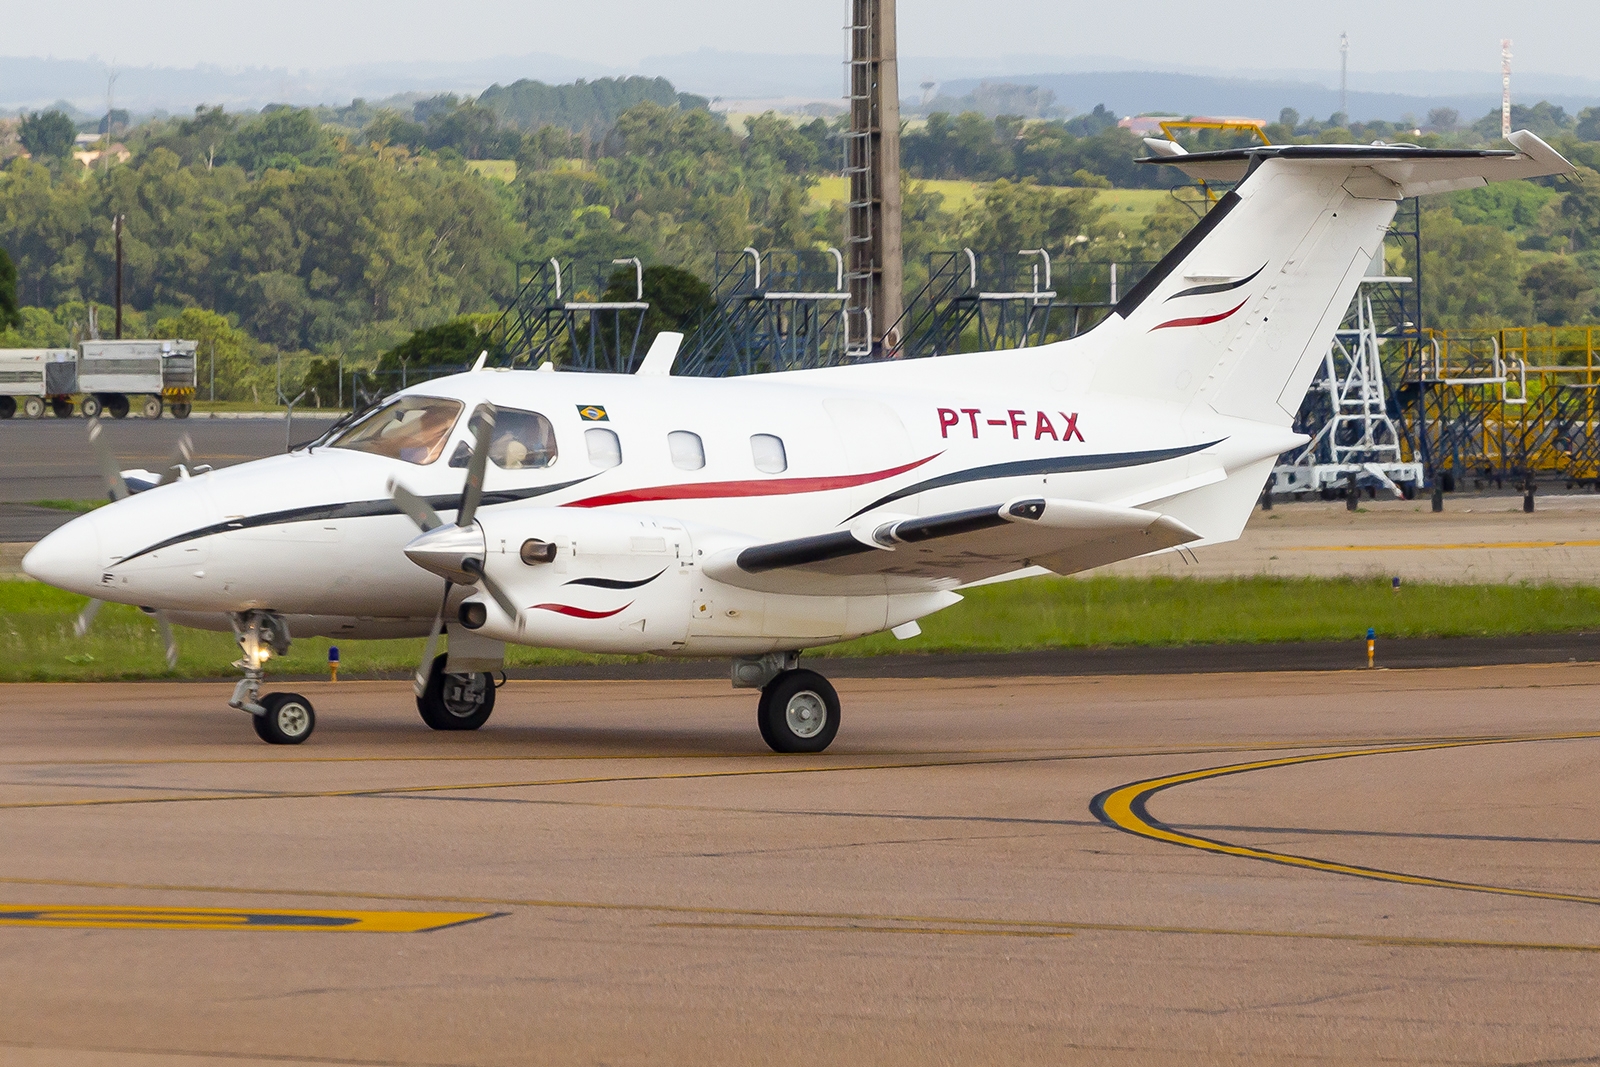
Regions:
[[[1600,665],[838,686],[6,686],[0,1062],[1600,1059]]]

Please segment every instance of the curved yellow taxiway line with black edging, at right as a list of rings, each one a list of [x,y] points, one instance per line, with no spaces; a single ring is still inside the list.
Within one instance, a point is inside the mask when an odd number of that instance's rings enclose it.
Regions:
[[[1408,875],[1400,870],[1384,870],[1381,867],[1362,867],[1358,864],[1341,864],[1328,859],[1315,859],[1312,856],[1294,856],[1291,853],[1277,853],[1266,848],[1253,848],[1250,845],[1232,845],[1229,841],[1218,841],[1206,837],[1198,837],[1194,833],[1186,833],[1182,830],[1173,829],[1165,822],[1152,817],[1149,814],[1149,800],[1155,793],[1173,789],[1176,785],[1187,785],[1192,782],[1203,782],[1214,777],[1224,777],[1229,774],[1245,774],[1248,771],[1266,771],[1278,766],[1296,766],[1302,763],[1323,763],[1328,760],[1350,760],[1365,755],[1397,755],[1405,752],[1437,752],[1442,749],[1467,749],[1475,745],[1493,745],[1493,744],[1526,744],[1534,741],[1594,741],[1600,737],[1600,733],[1571,733],[1571,734],[1542,734],[1533,737],[1472,737],[1458,741],[1430,741],[1424,744],[1408,744],[1408,745],[1379,745],[1370,749],[1347,749],[1344,752],[1314,752],[1309,755],[1291,755],[1278,757],[1275,760],[1256,760],[1251,763],[1230,763],[1227,766],[1213,766],[1198,771],[1184,771],[1181,774],[1163,774],[1162,777],[1147,777],[1139,782],[1130,782],[1126,785],[1118,785],[1109,789],[1090,801],[1090,811],[1094,813],[1102,822],[1117,827],[1118,830],[1126,830],[1136,837],[1144,837],[1152,841],[1165,841],[1166,845],[1181,845],[1184,848],[1195,848],[1205,853],[1214,853],[1218,856],[1237,856],[1240,859],[1261,859],[1274,864],[1283,864],[1286,867],[1299,867],[1302,870],[1320,870],[1334,875],[1350,875],[1355,878],[1373,878],[1376,881],[1394,881],[1398,885],[1410,886],[1427,886],[1434,889],[1464,889],[1469,893],[1493,893],[1499,896],[1515,896],[1528,897],[1534,901],[1565,901],[1571,904],[1600,904],[1600,897],[1587,896],[1582,893],[1557,893],[1552,889],[1522,889],[1517,886],[1496,886],[1477,881],[1458,881],[1454,878],[1432,878],[1429,875]]]

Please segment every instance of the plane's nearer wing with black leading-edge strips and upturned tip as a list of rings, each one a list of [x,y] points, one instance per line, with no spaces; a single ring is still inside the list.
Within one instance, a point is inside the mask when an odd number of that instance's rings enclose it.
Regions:
[[[1072,574],[1198,539],[1184,523],[1157,512],[1019,498],[726,549],[707,558],[704,571],[730,585],[773,593],[912,593],[957,589],[1027,566]]]

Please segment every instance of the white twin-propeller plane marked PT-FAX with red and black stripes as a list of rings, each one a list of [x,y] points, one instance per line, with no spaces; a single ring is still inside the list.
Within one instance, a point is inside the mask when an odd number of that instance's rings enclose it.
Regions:
[[[1397,202],[1571,171],[1531,133],[1510,142],[1155,141],[1152,162],[1237,184],[1072,341],[726,379],[672,378],[675,334],[635,374],[480,358],[286,456],[178,464],[147,491],[104,453],[120,499],[22,566],[232,629],[230,705],[275,744],[315,721],[261,693],[291,633],[430,635],[416,696],[435,729],[483,725],[517,643],[731,657],[768,745],[821,752],[838,696],[802,649],[909,638],[965,587],[1237,537],[1306,440],[1290,424]]]

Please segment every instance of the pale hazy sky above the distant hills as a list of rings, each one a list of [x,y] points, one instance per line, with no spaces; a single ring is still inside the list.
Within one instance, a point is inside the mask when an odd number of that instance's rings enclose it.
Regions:
[[[0,0],[0,54],[122,66],[338,67],[554,53],[608,66],[718,48],[840,53],[843,0]],[[914,56],[1117,56],[1134,67],[1595,75],[1595,0],[899,0]]]

